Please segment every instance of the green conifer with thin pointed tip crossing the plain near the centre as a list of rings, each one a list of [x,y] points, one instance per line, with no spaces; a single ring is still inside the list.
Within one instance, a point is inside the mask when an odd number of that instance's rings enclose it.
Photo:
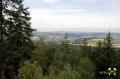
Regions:
[[[68,35],[65,34],[64,40],[60,45],[57,46],[54,60],[53,60],[53,67],[56,72],[63,69],[65,63],[70,63],[70,54],[71,54],[71,45],[69,44]]]

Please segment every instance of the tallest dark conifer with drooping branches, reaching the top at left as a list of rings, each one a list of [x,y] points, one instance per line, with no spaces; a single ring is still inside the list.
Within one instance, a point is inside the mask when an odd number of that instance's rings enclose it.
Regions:
[[[2,46],[5,52],[4,74],[6,79],[14,79],[18,65],[32,55],[32,29],[30,27],[30,13],[23,5],[23,0],[3,1],[3,23],[1,38],[5,41]],[[4,33],[5,32],[5,33]]]

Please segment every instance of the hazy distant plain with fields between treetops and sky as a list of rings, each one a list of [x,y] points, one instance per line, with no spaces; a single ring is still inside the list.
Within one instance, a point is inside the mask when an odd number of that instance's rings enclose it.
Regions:
[[[34,32],[34,40],[39,37],[43,38],[46,42],[54,41],[60,43],[64,39],[65,31],[56,32]],[[87,39],[89,44],[96,44],[99,40],[103,40],[107,33],[105,32],[67,32],[68,39],[71,43],[78,44],[82,43],[83,39]],[[120,33],[111,33],[113,38],[113,44],[120,44]]]

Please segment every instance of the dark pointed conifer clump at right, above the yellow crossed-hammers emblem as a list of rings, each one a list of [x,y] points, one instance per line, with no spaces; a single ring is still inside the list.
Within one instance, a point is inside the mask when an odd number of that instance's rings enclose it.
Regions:
[[[112,47],[112,37],[108,33],[104,42],[99,41],[95,51],[92,52],[91,59],[96,63],[97,67],[110,66],[113,63],[115,50]]]

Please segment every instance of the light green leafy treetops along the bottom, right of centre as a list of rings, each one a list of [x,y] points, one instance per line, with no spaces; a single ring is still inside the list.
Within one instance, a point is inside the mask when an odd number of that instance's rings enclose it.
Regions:
[[[95,79],[95,65],[89,58],[83,58],[80,61],[80,66],[76,69],[70,64],[66,64],[57,74],[54,69],[51,70],[48,79]]]

